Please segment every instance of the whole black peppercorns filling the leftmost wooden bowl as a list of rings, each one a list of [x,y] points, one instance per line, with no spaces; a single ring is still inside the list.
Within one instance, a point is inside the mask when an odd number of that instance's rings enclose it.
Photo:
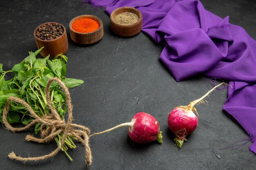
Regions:
[[[49,23],[42,25],[36,31],[36,37],[41,40],[54,40],[63,35],[64,29],[61,24]]]

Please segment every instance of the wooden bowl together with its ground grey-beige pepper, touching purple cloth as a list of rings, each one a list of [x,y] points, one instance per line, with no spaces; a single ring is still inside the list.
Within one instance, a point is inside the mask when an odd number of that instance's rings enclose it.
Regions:
[[[136,35],[142,28],[142,14],[132,7],[120,7],[110,15],[110,26],[119,36],[129,37]]]

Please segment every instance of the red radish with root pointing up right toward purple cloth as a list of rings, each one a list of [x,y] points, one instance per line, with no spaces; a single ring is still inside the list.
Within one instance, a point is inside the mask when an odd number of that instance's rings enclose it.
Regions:
[[[198,112],[194,106],[201,103],[204,97],[209,95],[209,93],[221,84],[215,86],[200,99],[194,100],[188,106],[178,106],[171,111],[168,116],[168,126],[176,136],[174,139],[176,142],[175,145],[181,148],[184,141],[187,141],[186,136],[191,134],[198,126],[198,117],[194,114],[195,112],[198,115]]]

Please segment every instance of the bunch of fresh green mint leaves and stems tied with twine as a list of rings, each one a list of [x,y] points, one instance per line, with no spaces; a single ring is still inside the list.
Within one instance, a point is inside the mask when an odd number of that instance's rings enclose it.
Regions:
[[[49,113],[47,107],[47,101],[45,97],[45,88],[47,81],[52,77],[57,77],[67,86],[67,88],[73,88],[83,84],[83,80],[66,78],[66,65],[67,57],[63,54],[57,55],[53,60],[49,60],[49,56],[45,58],[36,59],[36,55],[43,49],[29,52],[21,63],[16,64],[10,71],[3,71],[2,64],[0,64],[0,121],[2,122],[2,113],[7,102],[8,97],[18,97],[25,100],[34,112],[42,117]],[[13,78],[6,80],[4,77],[7,73],[13,73]],[[53,82],[50,86],[50,98],[52,105],[58,111],[60,117],[63,119],[64,114],[67,111],[67,105],[65,103],[65,93],[59,90],[59,84]],[[7,120],[9,124],[21,123],[24,125],[29,124],[34,118],[31,117],[28,110],[22,104],[11,102],[9,108],[9,114]],[[40,123],[35,125],[35,133],[40,132]],[[66,155],[68,148],[76,148],[72,139],[76,139],[72,136],[67,136],[65,144],[62,146]],[[55,137],[55,141],[60,147],[60,141],[62,135]]]

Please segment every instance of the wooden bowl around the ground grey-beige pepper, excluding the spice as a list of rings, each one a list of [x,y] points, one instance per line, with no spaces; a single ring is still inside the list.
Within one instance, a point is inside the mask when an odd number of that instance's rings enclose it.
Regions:
[[[131,25],[121,25],[116,23],[115,17],[124,12],[132,12],[138,15],[139,20]],[[120,7],[115,9],[110,15],[110,26],[114,33],[123,37],[130,37],[136,35],[141,31],[142,28],[142,14],[139,10],[132,7]]]

